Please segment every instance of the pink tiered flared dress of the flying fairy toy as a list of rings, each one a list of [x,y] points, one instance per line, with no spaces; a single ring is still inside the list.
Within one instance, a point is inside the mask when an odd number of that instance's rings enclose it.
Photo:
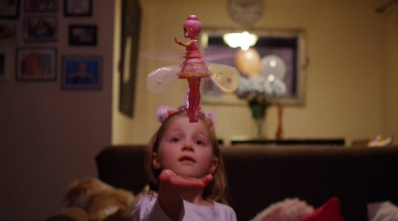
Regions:
[[[206,64],[201,60],[202,56],[199,52],[198,41],[191,39],[187,47],[187,54],[183,63],[183,68],[178,74],[179,78],[185,79],[188,77],[208,77],[210,75]]]

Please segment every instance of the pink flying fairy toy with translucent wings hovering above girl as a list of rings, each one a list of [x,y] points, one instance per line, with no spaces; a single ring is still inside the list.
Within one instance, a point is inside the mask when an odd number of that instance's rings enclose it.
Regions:
[[[196,15],[189,15],[184,23],[184,37],[188,42],[181,42],[174,37],[177,44],[186,48],[185,61],[182,65],[168,66],[152,71],[147,77],[148,89],[154,93],[165,91],[176,79],[187,79],[189,84],[187,115],[190,122],[198,122],[200,112],[200,80],[210,77],[223,91],[232,91],[239,86],[239,71],[228,65],[206,64],[199,52],[198,41],[201,24]]]

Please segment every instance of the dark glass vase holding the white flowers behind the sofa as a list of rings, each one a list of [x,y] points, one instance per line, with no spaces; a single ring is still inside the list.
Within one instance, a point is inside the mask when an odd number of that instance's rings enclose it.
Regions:
[[[270,104],[265,99],[252,99],[249,100],[249,107],[252,111],[252,118],[256,125],[256,137],[264,137],[263,125],[267,114],[267,108]]]

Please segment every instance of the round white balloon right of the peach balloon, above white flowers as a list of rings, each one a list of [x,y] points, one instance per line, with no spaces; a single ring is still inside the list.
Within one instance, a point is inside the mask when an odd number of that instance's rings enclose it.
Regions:
[[[284,80],[286,76],[285,62],[276,55],[268,55],[261,59],[260,65],[261,75],[268,80],[280,79]]]

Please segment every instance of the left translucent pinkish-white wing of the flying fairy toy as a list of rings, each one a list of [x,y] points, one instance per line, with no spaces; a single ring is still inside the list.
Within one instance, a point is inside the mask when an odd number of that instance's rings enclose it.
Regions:
[[[173,65],[152,71],[146,77],[146,85],[151,92],[164,92],[177,78],[181,66]]]

